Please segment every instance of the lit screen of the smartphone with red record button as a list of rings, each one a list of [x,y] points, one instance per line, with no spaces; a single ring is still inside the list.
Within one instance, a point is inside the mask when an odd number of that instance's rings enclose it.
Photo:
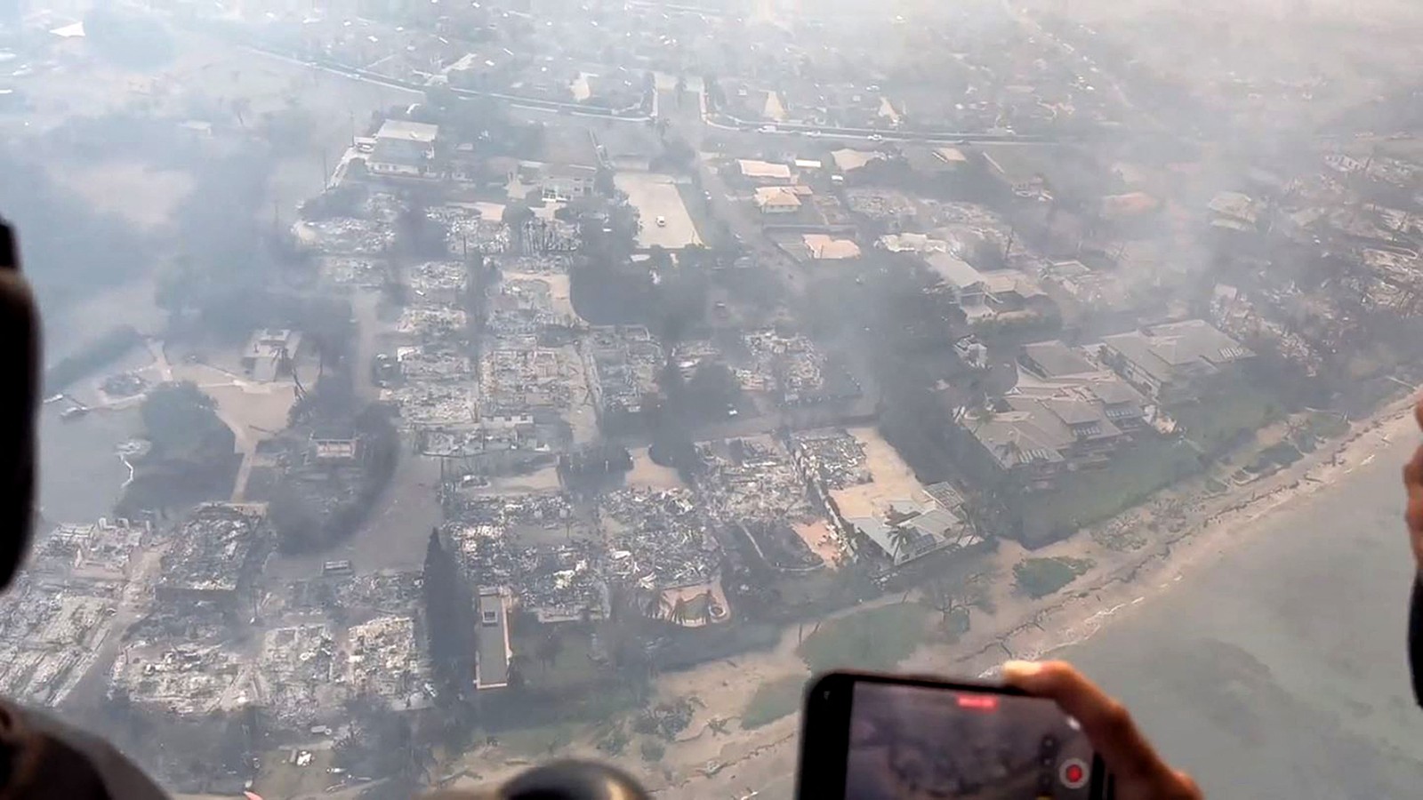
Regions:
[[[857,680],[845,800],[1086,800],[1093,752],[1050,700]]]

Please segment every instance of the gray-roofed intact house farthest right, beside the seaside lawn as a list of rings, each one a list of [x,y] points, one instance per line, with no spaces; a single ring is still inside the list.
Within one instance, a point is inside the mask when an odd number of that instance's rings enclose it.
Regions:
[[[1100,352],[1117,374],[1163,404],[1200,399],[1218,376],[1255,356],[1200,319],[1103,336]]]

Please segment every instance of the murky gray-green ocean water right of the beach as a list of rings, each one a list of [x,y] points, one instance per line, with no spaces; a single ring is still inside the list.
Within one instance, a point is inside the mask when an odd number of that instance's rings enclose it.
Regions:
[[[1423,797],[1399,441],[1060,652],[1207,797]]]

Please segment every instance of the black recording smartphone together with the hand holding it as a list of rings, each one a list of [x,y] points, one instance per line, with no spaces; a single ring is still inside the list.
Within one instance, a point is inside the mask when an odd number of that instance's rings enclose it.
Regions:
[[[800,800],[1195,800],[1117,700],[1064,662],[1003,685],[831,672],[810,688]]]

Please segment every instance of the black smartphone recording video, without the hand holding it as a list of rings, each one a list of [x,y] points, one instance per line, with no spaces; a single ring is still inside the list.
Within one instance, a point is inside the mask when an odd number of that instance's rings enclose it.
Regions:
[[[1101,759],[1052,700],[831,672],[805,693],[798,800],[1101,800]]]

